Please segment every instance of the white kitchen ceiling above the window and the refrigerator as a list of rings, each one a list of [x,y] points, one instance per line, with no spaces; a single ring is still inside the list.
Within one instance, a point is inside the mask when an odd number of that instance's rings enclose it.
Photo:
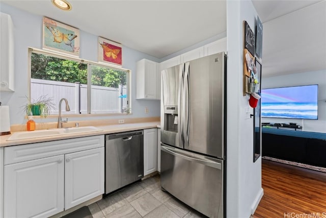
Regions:
[[[162,58],[226,31],[226,1],[2,1]]]

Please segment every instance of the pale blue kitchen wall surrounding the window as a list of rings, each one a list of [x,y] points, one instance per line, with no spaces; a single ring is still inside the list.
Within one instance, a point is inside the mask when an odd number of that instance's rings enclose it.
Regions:
[[[14,53],[15,53],[15,92],[0,92],[2,105],[10,107],[10,122],[24,124],[24,113],[21,107],[26,104],[25,95],[28,95],[28,47],[42,49],[42,21],[43,17],[25,12],[1,3],[1,12],[10,14],[14,24]],[[60,20],[69,25],[69,20]],[[78,27],[77,27],[78,28]],[[80,30],[80,58],[97,61],[97,37],[91,33]],[[135,100],[135,70],[136,62],[146,58],[159,62],[159,59],[122,46],[123,68],[131,70],[131,107],[132,114],[127,117],[151,117],[160,115],[160,102],[148,100]],[[145,114],[144,108],[148,107],[149,113]],[[107,118],[119,118],[122,116],[110,116]],[[105,117],[104,117],[105,118]],[[79,117],[71,117],[69,120],[80,120]],[[103,119],[101,117],[83,117],[83,119]],[[56,119],[37,119],[36,122],[55,122]]]

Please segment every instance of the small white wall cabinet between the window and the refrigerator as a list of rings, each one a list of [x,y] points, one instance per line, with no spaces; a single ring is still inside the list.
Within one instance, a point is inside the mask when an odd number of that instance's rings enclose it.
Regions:
[[[160,99],[159,65],[154,61],[142,59],[137,62],[136,98]]]

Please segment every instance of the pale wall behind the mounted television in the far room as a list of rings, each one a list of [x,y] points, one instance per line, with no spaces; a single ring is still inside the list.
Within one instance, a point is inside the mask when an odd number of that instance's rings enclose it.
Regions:
[[[262,75],[264,72],[262,71]],[[318,119],[282,119],[262,117],[261,122],[269,123],[297,123],[303,127],[303,131],[326,133],[326,69],[289,74],[276,77],[262,76],[261,87],[277,88],[287,86],[301,86],[318,84]]]

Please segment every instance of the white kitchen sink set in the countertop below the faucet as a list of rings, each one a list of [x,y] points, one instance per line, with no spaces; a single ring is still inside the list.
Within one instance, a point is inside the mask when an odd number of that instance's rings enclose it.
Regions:
[[[87,127],[71,127],[71,128],[61,128],[61,129],[50,129],[50,130],[36,130],[36,131],[22,131],[13,133],[7,141],[29,139],[29,138],[42,138],[57,135],[68,135],[86,132],[98,132],[103,131],[93,126]]]

